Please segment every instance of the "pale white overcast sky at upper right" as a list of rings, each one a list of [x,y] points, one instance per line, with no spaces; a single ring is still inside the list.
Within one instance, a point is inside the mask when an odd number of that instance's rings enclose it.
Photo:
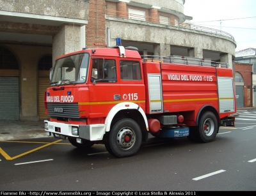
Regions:
[[[256,0],[186,0],[191,24],[231,34],[239,50],[256,49]]]

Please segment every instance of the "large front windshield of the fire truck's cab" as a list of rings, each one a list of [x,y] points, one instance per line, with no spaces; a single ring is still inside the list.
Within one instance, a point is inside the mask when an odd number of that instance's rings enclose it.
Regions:
[[[56,61],[51,85],[84,83],[87,79],[89,54],[74,54]]]

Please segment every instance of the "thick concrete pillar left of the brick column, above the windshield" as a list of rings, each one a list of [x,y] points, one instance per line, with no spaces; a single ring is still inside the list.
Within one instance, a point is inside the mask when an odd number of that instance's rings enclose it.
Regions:
[[[84,29],[85,31],[85,29]],[[52,38],[52,63],[56,57],[81,49],[81,26],[63,24]],[[83,39],[82,39],[83,40]],[[85,42],[84,42],[85,45]]]

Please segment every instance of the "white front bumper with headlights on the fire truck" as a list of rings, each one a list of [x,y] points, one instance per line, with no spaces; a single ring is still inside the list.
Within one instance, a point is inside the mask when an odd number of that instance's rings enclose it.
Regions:
[[[52,121],[44,121],[45,132],[54,133],[58,135],[77,137],[81,139],[96,141],[102,140],[103,135],[106,133],[106,124],[68,124],[68,123],[58,123]],[[72,127],[78,128],[78,134],[72,134]]]

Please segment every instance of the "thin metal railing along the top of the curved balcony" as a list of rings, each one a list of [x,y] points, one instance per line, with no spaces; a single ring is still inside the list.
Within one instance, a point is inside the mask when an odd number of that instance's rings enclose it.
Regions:
[[[137,15],[135,16],[134,14],[132,14],[132,17],[131,17],[131,14],[129,13],[124,13],[122,11],[116,11],[116,10],[106,10],[106,15],[109,15],[110,17],[120,17],[120,18],[125,18],[125,19],[132,19],[132,20],[143,20],[146,21],[146,22],[154,22],[154,23],[157,23],[157,24],[164,24],[164,25],[168,25],[168,26],[173,26],[173,27],[181,27],[181,28],[185,28],[185,29],[193,29],[193,30],[196,30],[196,31],[202,31],[202,32],[205,32],[205,33],[212,33],[212,34],[217,34],[217,35],[221,35],[221,36],[225,36],[225,37],[228,37],[232,40],[235,40],[234,37],[225,32],[225,31],[220,31],[218,29],[211,29],[211,28],[208,28],[208,27],[203,27],[203,26],[196,26],[194,24],[189,24],[189,23],[184,23],[184,22],[175,22],[174,20],[172,21],[168,21],[169,24],[166,24],[166,22],[164,21],[159,21],[159,19],[156,19],[154,17],[145,17],[143,15]]]

